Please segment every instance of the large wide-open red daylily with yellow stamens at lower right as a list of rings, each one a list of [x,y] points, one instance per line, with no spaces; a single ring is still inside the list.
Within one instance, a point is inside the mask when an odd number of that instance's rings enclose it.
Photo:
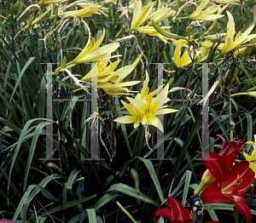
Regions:
[[[254,172],[245,160],[227,169],[224,158],[217,153],[207,153],[210,159],[205,160],[207,169],[215,177],[216,182],[207,186],[201,192],[203,203],[234,203],[238,214],[245,214],[247,223],[251,223],[251,210],[247,206],[245,192],[254,182]]]

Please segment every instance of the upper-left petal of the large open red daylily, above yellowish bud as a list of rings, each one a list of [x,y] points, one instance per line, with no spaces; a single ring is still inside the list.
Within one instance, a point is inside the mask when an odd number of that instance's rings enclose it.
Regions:
[[[223,158],[218,156],[217,153],[209,152],[204,157],[204,160],[207,169],[209,169],[218,183],[221,184],[226,176],[226,167]]]

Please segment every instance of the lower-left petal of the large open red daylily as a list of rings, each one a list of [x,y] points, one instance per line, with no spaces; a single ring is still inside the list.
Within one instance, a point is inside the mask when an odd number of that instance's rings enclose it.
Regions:
[[[212,183],[207,186],[201,192],[201,200],[203,203],[222,203],[225,202],[224,197],[222,196],[222,192],[217,185],[217,182]]]

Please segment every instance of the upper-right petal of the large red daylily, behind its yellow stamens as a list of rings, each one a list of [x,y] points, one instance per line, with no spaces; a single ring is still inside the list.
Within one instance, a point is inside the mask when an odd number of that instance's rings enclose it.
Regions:
[[[238,179],[237,179],[238,178]],[[254,172],[245,160],[236,163],[221,184],[221,191],[230,195],[247,192],[254,182]]]

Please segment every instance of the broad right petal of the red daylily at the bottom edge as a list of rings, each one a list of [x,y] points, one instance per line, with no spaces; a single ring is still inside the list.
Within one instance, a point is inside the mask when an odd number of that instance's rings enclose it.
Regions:
[[[184,208],[175,198],[167,197],[167,205],[172,209],[172,216],[175,220],[184,221],[190,219],[189,210]]]

